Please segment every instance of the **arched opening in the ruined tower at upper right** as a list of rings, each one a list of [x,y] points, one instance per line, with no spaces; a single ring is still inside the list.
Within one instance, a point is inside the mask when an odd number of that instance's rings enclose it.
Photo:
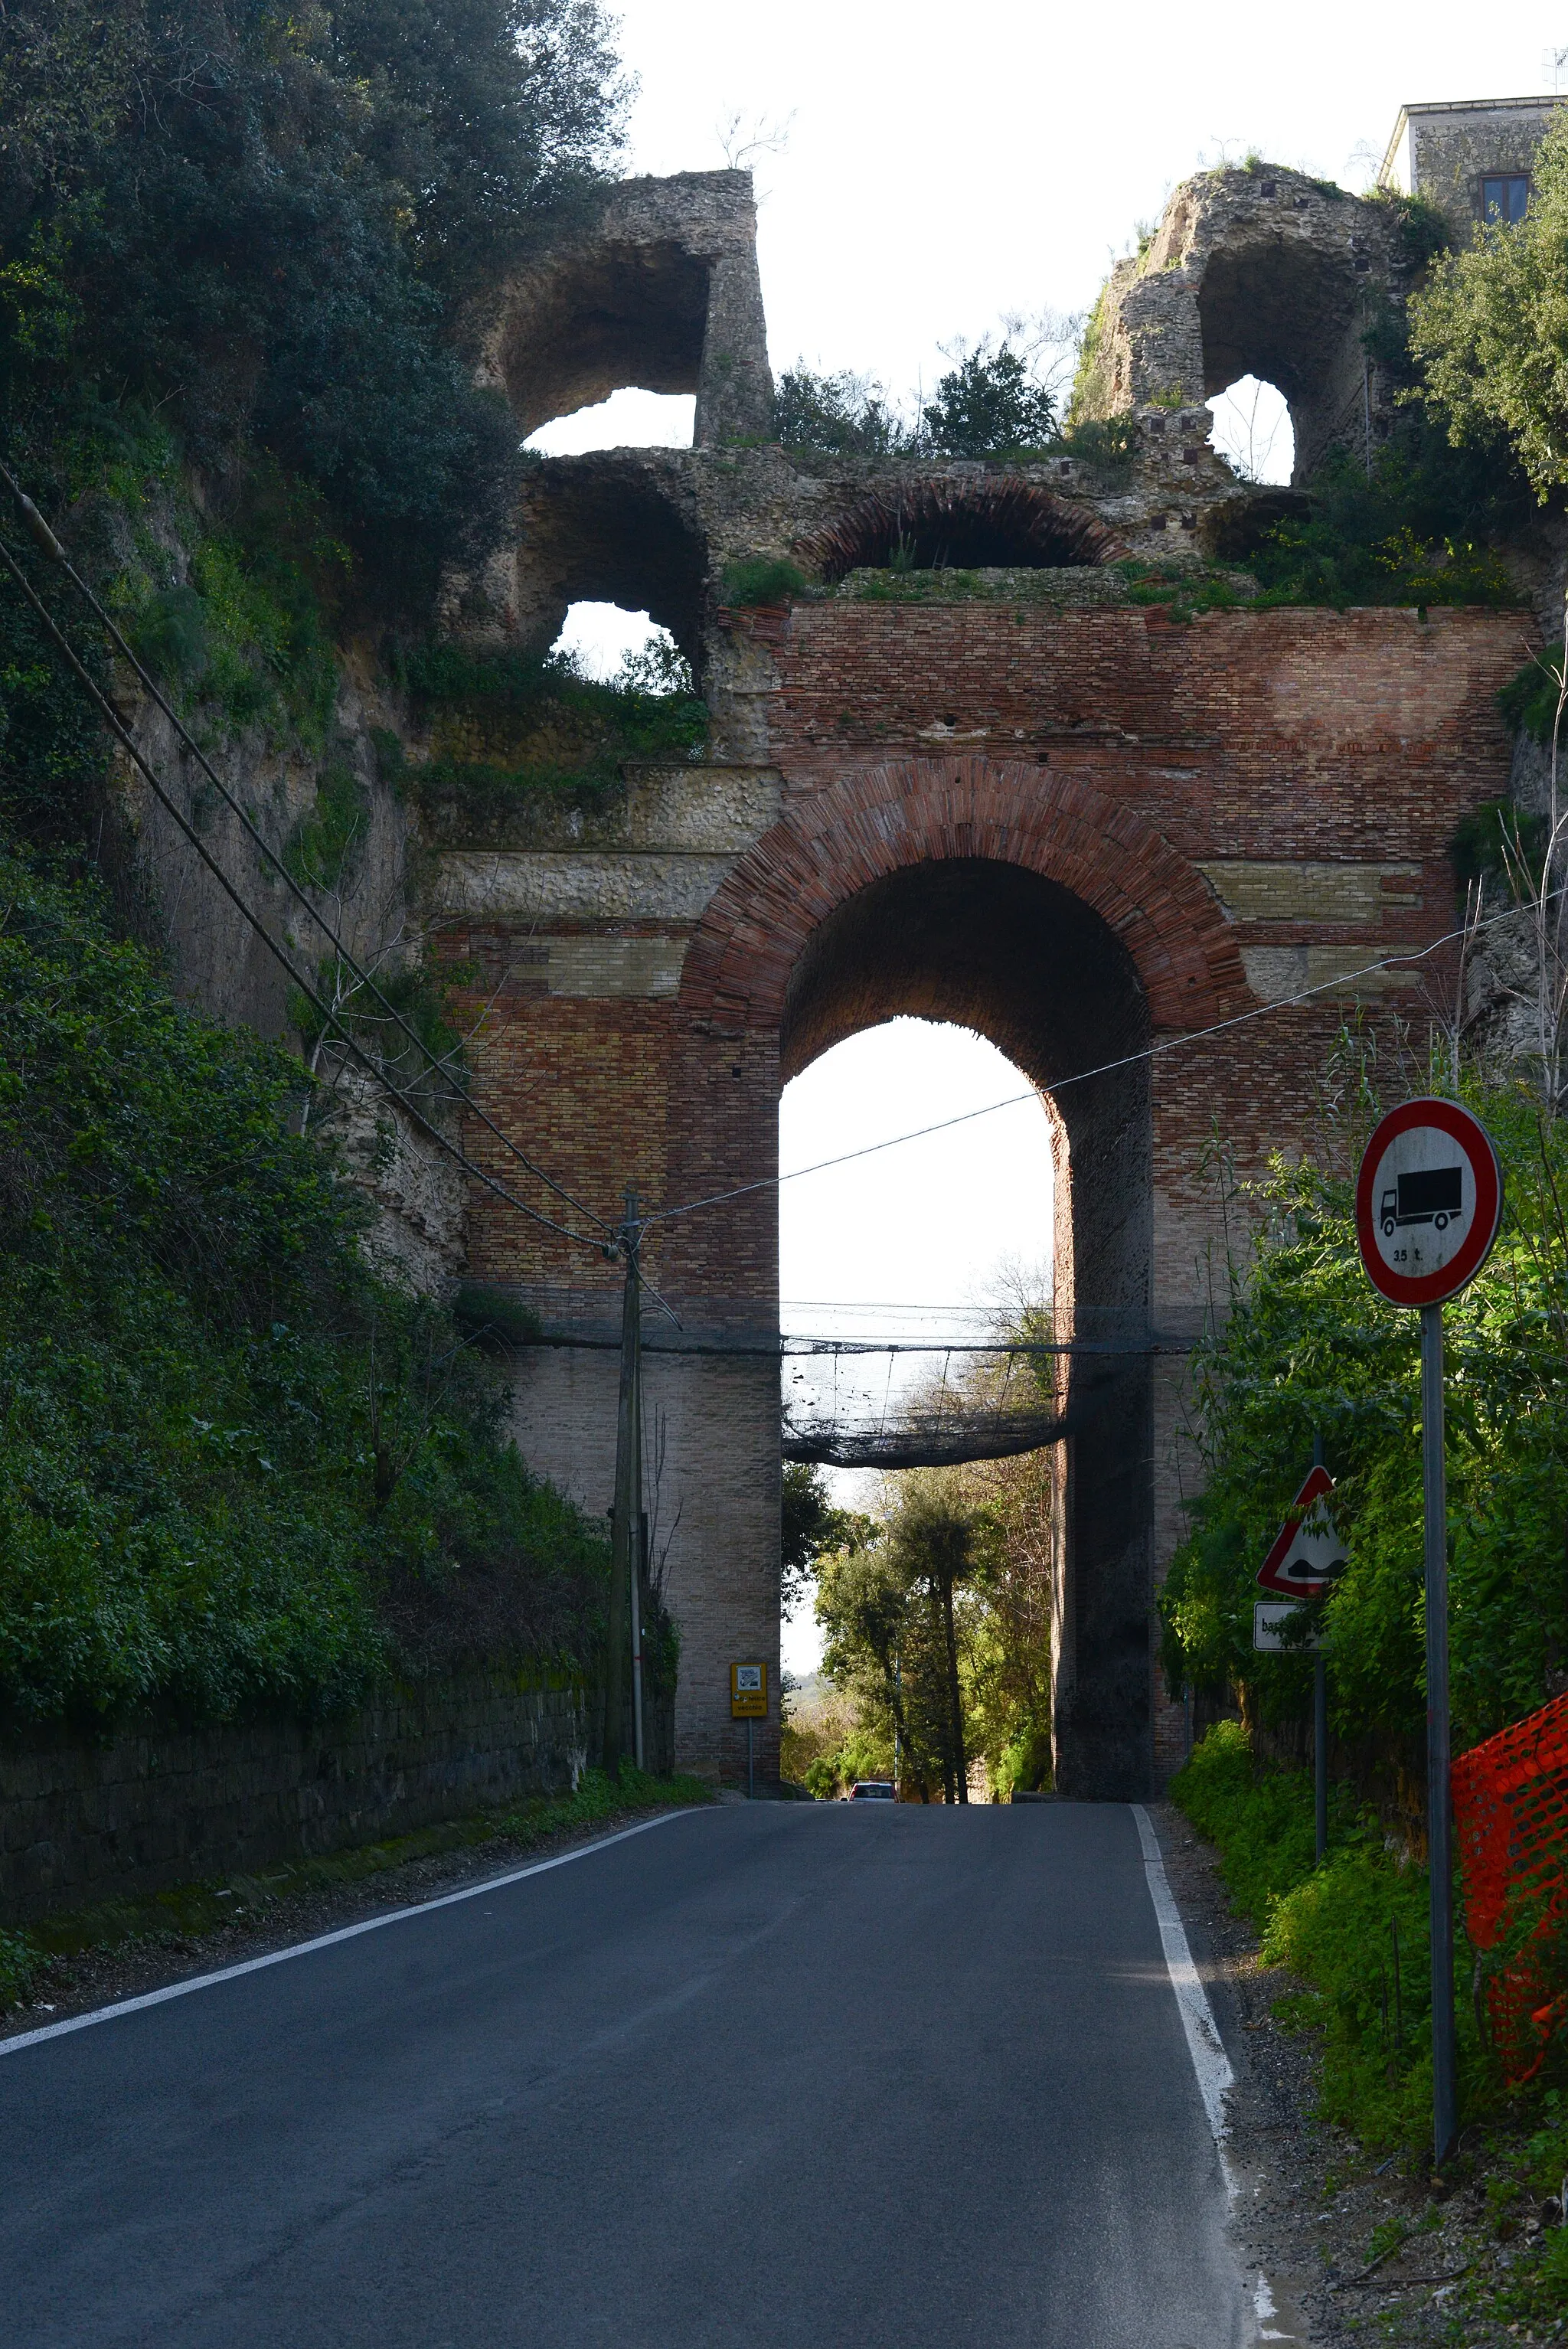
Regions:
[[[1359,413],[1366,355],[1359,343],[1357,261],[1324,251],[1305,237],[1225,244],[1204,268],[1197,317],[1204,341],[1204,399],[1228,397],[1249,385],[1239,402],[1242,413],[1230,418],[1237,437],[1251,437],[1246,418],[1251,385],[1275,395],[1258,402],[1258,420],[1275,458],[1282,456],[1284,439],[1277,404],[1284,402],[1289,411],[1291,472],[1258,470],[1251,479],[1305,479],[1347,420],[1354,423]],[[1216,446],[1221,446],[1218,430]]]

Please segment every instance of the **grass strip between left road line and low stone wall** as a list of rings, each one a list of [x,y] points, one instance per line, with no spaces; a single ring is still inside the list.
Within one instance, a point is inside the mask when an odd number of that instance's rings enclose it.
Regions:
[[[26,2006],[61,1961],[87,1952],[181,1950],[204,1933],[225,1926],[263,1926],[284,1903],[300,1896],[347,1893],[390,1870],[444,1853],[502,1844],[507,1851],[533,1851],[556,1837],[606,1825],[636,1811],[704,1804],[714,1790],[702,1778],[655,1778],[648,1771],[622,1769],[620,1781],[589,1769],[570,1795],[538,1795],[507,1811],[477,1811],[469,1818],[415,1828],[411,1835],[354,1844],[319,1858],[286,1860],[258,1875],[207,1877],[174,1884],[160,1893],[106,1900],[89,1910],[45,1917],[26,1931],[0,1931],[0,2013]]]

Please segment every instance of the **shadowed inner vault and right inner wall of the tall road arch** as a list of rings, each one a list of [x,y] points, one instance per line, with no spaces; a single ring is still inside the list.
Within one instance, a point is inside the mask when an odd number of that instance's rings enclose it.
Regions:
[[[784,994],[779,1076],[913,1015],[986,1036],[1049,1099],[1059,1334],[1059,1785],[1131,1797],[1150,1771],[1150,1015],[1127,947],[1021,864],[906,864],[843,900]],[[1099,1076],[1084,1071],[1101,1069]],[[927,1123],[908,1104],[908,1125]],[[897,1151],[887,1182],[899,1179]],[[1045,1200],[1042,1200],[1045,1212]]]

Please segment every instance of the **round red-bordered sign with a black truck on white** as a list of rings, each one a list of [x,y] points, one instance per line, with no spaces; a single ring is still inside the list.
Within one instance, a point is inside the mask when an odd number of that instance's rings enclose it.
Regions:
[[[1502,1167],[1458,1102],[1404,1102],[1380,1118],[1357,1174],[1366,1278],[1397,1306],[1439,1306],[1476,1278],[1498,1238]]]

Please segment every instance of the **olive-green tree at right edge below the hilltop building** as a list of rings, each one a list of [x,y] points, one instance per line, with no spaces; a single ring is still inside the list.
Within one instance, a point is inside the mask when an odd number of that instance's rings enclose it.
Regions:
[[[1455,444],[1500,428],[1542,505],[1568,484],[1568,120],[1540,143],[1523,221],[1432,263],[1411,350]]]

